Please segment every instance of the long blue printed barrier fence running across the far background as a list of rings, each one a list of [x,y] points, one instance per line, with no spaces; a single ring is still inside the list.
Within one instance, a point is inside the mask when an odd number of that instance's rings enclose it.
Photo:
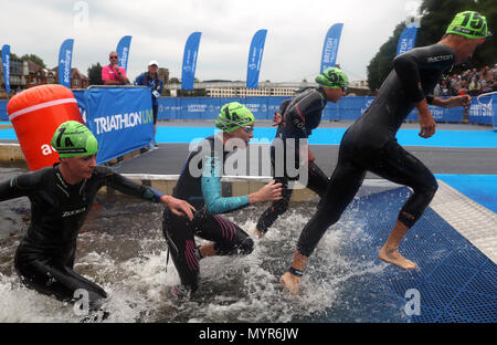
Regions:
[[[81,97],[74,91],[76,98]],[[133,102],[129,97],[129,102]],[[248,107],[257,119],[272,119],[274,112],[279,104],[288,97],[160,97],[159,119],[213,119],[218,116],[221,106],[229,102],[240,102]],[[340,121],[357,119],[361,116],[374,97],[371,96],[347,96],[342,97],[338,104],[328,103],[322,113],[322,119]],[[497,95],[482,97],[484,103],[493,100],[493,107],[483,106],[476,102],[474,97],[469,107],[469,123],[494,124],[494,117],[497,114]],[[430,106],[433,117],[436,122],[461,123],[464,117],[464,108],[441,108]],[[0,119],[9,119],[7,114],[7,101],[0,101]],[[406,118],[408,121],[416,121],[416,112],[413,111]]]

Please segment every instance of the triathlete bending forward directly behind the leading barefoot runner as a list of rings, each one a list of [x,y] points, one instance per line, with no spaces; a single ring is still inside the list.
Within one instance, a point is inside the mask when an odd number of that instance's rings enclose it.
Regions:
[[[299,180],[303,178],[306,187],[316,192],[319,197],[326,192],[328,187],[328,176],[319,169],[314,161],[314,155],[302,149],[308,149],[308,145],[300,147],[300,139],[307,139],[313,129],[319,126],[321,122],[322,111],[326,103],[337,103],[345,94],[345,87],[348,84],[347,75],[337,67],[329,67],[322,74],[316,77],[319,87],[306,87],[302,90],[295,97],[285,100],[281,106],[278,115],[275,115],[275,122],[278,123],[275,139],[271,146],[271,163],[273,167],[273,175],[275,180],[282,182],[282,199],[273,202],[261,216],[256,226],[256,234],[262,238],[268,228],[276,221],[276,219],[286,212],[292,197],[293,188],[288,186],[289,180]],[[279,149],[278,148],[283,148]],[[294,155],[294,167],[286,160],[287,150]],[[302,151],[302,157],[300,157]],[[281,155],[279,161],[283,167],[275,164],[277,158],[275,155]],[[300,159],[307,158],[308,161],[299,163]],[[298,176],[290,177],[288,169],[297,171],[299,164],[307,167],[307,177]],[[282,168],[282,169],[278,169]],[[281,172],[278,171],[281,170]],[[282,174],[283,172],[283,174]]]

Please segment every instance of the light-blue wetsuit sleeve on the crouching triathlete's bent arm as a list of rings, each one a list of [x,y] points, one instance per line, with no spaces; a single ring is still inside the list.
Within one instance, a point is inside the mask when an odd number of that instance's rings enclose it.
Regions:
[[[229,198],[221,196],[221,175],[222,159],[214,156],[205,157],[201,185],[205,208],[210,215],[225,213],[248,205],[248,196]]]

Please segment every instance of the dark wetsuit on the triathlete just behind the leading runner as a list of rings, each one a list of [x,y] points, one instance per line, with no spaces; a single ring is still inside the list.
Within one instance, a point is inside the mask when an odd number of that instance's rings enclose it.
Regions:
[[[286,164],[287,150],[294,154],[295,169],[298,169],[299,164],[299,139],[306,139],[310,136],[313,129],[319,126],[321,122],[322,111],[326,106],[326,95],[322,88],[307,87],[302,90],[295,97],[285,100],[279,106],[279,114],[283,121],[278,125],[275,139],[271,146],[271,163],[273,166],[273,176],[276,182],[282,184],[282,199],[274,201],[262,215],[257,221],[257,230],[265,233],[268,228],[276,221],[276,219],[286,212],[288,203],[292,198],[293,189],[288,188],[288,181],[296,180],[300,176],[289,177],[288,166]],[[287,139],[294,139],[287,143]],[[278,172],[278,167],[275,167],[275,151],[276,140],[283,144],[283,150],[279,154],[283,156],[283,174]],[[295,143],[295,145],[293,145]],[[307,188],[315,191],[322,197],[328,186],[328,177],[319,167],[311,163],[308,165],[307,171]]]

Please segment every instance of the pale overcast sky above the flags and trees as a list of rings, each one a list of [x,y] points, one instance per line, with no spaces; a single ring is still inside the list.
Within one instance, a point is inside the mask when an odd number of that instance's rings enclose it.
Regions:
[[[366,80],[367,65],[420,0],[157,0],[3,1],[0,45],[21,56],[34,53],[49,67],[59,49],[74,39],[72,66],[108,64],[108,53],[131,35],[128,76],[149,60],[181,77],[184,43],[202,32],[199,80],[245,80],[253,34],[267,29],[260,81],[299,82],[319,72],[322,43],[334,23],[343,23],[337,63],[352,81]],[[85,9],[87,9],[87,17]]]

